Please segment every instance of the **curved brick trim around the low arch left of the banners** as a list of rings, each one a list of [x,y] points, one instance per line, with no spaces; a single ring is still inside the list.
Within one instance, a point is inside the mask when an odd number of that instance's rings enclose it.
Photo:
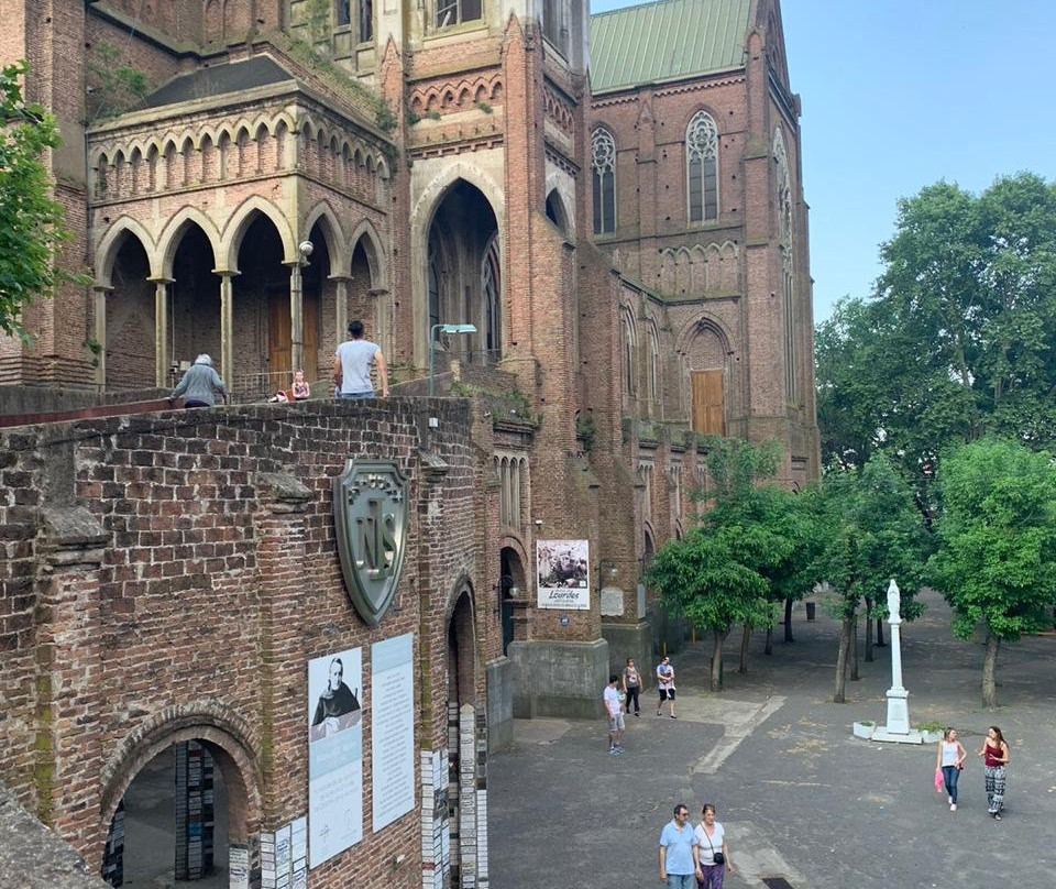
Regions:
[[[232,838],[245,839],[262,815],[263,775],[249,724],[234,711],[215,701],[166,707],[155,713],[124,738],[99,772],[99,814],[109,826],[118,804],[136,773],[162,750],[184,740],[202,740],[217,750],[232,811],[244,814],[242,824],[231,823]]]

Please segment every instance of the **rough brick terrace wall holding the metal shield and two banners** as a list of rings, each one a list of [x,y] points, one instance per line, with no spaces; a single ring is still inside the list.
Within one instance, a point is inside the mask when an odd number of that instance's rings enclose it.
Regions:
[[[439,429],[425,428],[427,415]],[[243,778],[263,791],[251,830],[274,828],[307,809],[307,660],[363,646],[370,701],[370,645],[403,633],[416,634],[420,665],[418,745],[441,746],[448,622],[466,584],[479,596],[481,652],[496,649],[484,635],[495,621],[479,555],[483,500],[468,420],[459,402],[317,402],[3,436],[0,779],[95,868],[109,814],[100,806],[105,794],[116,804],[141,765],[136,738],[166,720],[175,731],[183,713],[216,713],[248,726],[261,781]],[[446,461],[446,474],[425,478],[421,448]],[[331,514],[331,479],[359,454],[393,458],[410,476],[397,610],[373,630],[345,594]],[[293,476],[310,494],[284,500],[262,473]],[[64,475],[62,487],[55,480]],[[47,509],[66,515],[74,494],[103,541],[95,556],[69,535],[56,542],[44,524]],[[474,683],[482,701],[483,660]],[[370,832],[369,711],[365,725],[364,841],[312,871],[320,887],[420,879],[417,814]],[[397,854],[408,863],[394,877],[388,861]]]

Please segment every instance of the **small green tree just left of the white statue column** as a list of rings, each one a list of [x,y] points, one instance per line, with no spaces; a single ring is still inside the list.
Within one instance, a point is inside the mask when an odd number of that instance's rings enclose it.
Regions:
[[[817,556],[806,575],[827,581],[835,591],[829,610],[842,626],[833,700],[843,703],[862,601],[867,613],[880,610],[877,602],[895,578],[903,590],[903,618],[920,615],[923,607],[913,596],[930,539],[910,486],[883,453],[875,453],[861,469],[826,473],[818,496],[811,525]]]

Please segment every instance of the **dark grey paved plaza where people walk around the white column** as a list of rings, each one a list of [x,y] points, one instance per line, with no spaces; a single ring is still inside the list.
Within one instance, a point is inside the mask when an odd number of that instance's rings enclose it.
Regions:
[[[702,802],[718,806],[738,868],[727,889],[773,877],[794,889],[1056,886],[1056,636],[1003,648],[991,713],[979,704],[982,646],[952,637],[941,597],[924,601],[924,617],[902,625],[910,720],[958,728],[969,758],[957,812],[932,786],[934,745],[850,734],[856,720],[886,718],[890,649],[834,704],[837,623],[821,606],[807,623],[798,606],[795,643],[776,639],[766,657],[760,634],[747,674],[739,634],[727,640],[721,694],[702,691],[710,641],[674,655],[679,718],[658,717],[650,695],[620,758],[602,720],[518,721],[514,749],[488,768],[492,889],[658,887],[657,839],[676,801],[694,817]],[[1012,750],[1001,822],[975,756],[993,723]]]

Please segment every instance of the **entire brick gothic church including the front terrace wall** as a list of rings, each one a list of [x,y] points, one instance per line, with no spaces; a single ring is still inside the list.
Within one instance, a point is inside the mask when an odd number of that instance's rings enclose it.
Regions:
[[[0,59],[30,61],[62,128],[63,261],[92,281],[0,340],[0,413],[4,392],[148,397],[202,352],[235,402],[3,435],[0,781],[120,885],[123,797],[175,744],[220,776],[245,885],[284,885],[305,663],[363,651],[370,694],[366,652],[409,634],[414,808],[375,811],[308,886],[486,887],[486,754],[513,717],[594,714],[613,666],[679,641],[639,581],[692,522],[706,437],[777,439],[790,485],[818,472],[778,0],[0,10]],[[389,403],[328,397],[355,318]],[[319,397],[254,404],[295,369]],[[403,397],[430,386],[470,400]],[[376,627],[343,592],[330,501],[372,456],[411,507]],[[540,540],[586,541],[584,607],[540,606]]]

